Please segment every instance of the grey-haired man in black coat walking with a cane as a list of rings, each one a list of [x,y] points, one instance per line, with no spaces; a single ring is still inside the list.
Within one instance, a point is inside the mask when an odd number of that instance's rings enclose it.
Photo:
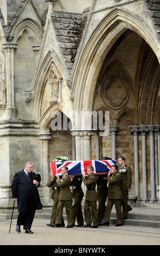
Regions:
[[[17,218],[16,231],[21,232],[23,225],[25,233],[33,234],[30,230],[35,210],[42,209],[38,187],[40,186],[40,175],[32,172],[33,163],[27,162],[20,172],[15,173],[11,183],[11,191],[14,200],[17,200],[19,216]]]

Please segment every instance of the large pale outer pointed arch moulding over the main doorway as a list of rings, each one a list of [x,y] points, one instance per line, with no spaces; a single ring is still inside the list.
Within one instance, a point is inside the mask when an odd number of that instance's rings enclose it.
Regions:
[[[75,109],[81,111],[83,108],[91,110],[93,106],[94,93],[97,77],[100,74],[104,59],[106,59],[110,49],[122,34],[128,30],[137,33],[156,53],[156,38],[151,33],[149,26],[145,22],[137,19],[131,11],[115,9],[107,15],[97,26],[95,32],[90,36],[86,45],[81,46],[82,53],[79,53],[76,67],[73,74],[72,94],[75,97]],[[85,94],[86,90],[89,92]],[[78,103],[77,103],[78,102]]]

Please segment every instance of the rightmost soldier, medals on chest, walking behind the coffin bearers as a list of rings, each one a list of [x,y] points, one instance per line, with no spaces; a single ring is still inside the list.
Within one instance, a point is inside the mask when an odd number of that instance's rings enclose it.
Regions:
[[[123,195],[122,199],[122,218],[123,220],[127,219],[127,213],[128,211],[132,211],[132,208],[130,205],[127,204],[127,197],[128,192],[131,191],[131,184],[132,184],[132,170],[130,166],[127,166],[125,163],[125,157],[121,156],[118,159],[119,163],[119,175],[121,178],[121,191]]]

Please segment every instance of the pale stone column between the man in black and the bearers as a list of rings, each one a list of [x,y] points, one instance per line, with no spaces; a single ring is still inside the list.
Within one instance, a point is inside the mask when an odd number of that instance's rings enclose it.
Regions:
[[[41,166],[42,166],[42,175],[41,182],[44,192],[45,202],[42,204],[47,206],[50,203],[50,190],[48,190],[46,184],[48,180],[48,176],[50,175],[50,163],[48,160],[48,144],[52,139],[51,133],[41,133],[39,137],[41,141]]]

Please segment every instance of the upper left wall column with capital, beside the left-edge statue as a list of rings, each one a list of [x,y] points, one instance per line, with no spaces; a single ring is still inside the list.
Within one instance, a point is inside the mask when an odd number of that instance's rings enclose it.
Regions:
[[[14,51],[17,44],[4,43],[5,60],[6,60],[6,86],[7,86],[7,108],[5,109],[5,118],[16,118],[17,109],[15,108],[14,93]]]

